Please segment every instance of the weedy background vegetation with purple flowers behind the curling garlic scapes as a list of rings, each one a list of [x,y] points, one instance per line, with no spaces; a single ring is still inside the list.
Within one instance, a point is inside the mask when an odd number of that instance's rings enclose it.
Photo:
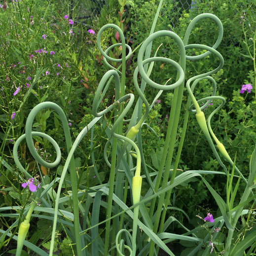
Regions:
[[[96,35],[100,28],[113,23],[121,28],[125,35],[126,43],[136,49],[149,35],[153,22],[152,14],[157,10],[158,0],[106,0],[101,13],[93,12],[90,19],[78,19],[82,16],[81,9],[84,1],[47,1],[47,0],[17,0],[0,3],[0,207],[25,206],[30,202],[31,193],[24,192],[21,187],[19,171],[13,161],[13,145],[25,133],[26,118],[29,112],[38,103],[51,101],[58,104],[65,112],[71,133],[77,137],[92,119],[92,102],[97,86],[104,73],[108,70],[104,65],[102,55],[96,44]],[[214,78],[218,85],[217,95],[223,96],[227,104],[212,119],[212,128],[221,138],[221,142],[229,152],[232,159],[239,159],[237,166],[245,177],[249,176],[249,162],[256,143],[256,20],[255,3],[244,0],[214,1],[202,0],[188,5],[183,10],[181,4],[175,1],[165,1],[158,18],[155,31],[170,30],[182,39],[189,22],[200,13],[213,13],[221,20],[224,28],[223,39],[218,47],[224,58],[223,68]],[[68,17],[65,17],[65,16]],[[89,33],[91,29],[95,32]],[[218,29],[210,19],[200,22],[191,33],[188,43],[201,43],[212,46],[218,37]],[[101,38],[102,48],[106,49],[114,43],[120,42],[119,34],[111,30],[103,33]],[[162,44],[162,45],[161,45]],[[161,46],[160,46],[161,45]],[[178,47],[169,39],[155,40],[152,53],[160,46],[157,56],[171,58],[179,61]],[[194,49],[193,49],[194,50]],[[201,52],[188,51],[188,55],[198,55]],[[138,50],[127,61],[126,90],[133,92],[133,72],[137,66]],[[114,47],[110,50],[110,57],[120,58],[121,48]],[[111,63],[115,68],[116,63]],[[217,60],[208,56],[199,61],[188,62],[186,75],[205,73],[216,67]],[[191,75],[192,76],[192,75]],[[164,84],[168,79],[176,79],[176,72],[167,64],[155,64],[150,78]],[[172,81],[172,80],[171,80]],[[242,85],[251,84],[251,92],[241,93]],[[112,87],[111,87],[112,86]],[[110,85],[113,88],[113,84]],[[198,99],[207,97],[213,88],[210,82],[202,80],[195,92]],[[110,90],[111,91],[111,90]],[[157,90],[149,87],[146,89],[146,99],[152,102]],[[168,125],[168,114],[173,100],[173,92],[164,92],[153,106],[147,124],[142,126],[144,156],[146,163],[153,169],[158,169],[165,143]],[[183,96],[180,124],[183,116],[188,94],[185,90]],[[105,95],[103,105],[109,106],[113,102],[112,94]],[[216,108],[216,103],[209,105],[205,110],[208,117]],[[128,113],[131,116],[132,113]],[[182,126],[181,126],[182,127]],[[61,129],[58,115],[52,110],[41,111],[36,116],[33,128],[35,131],[46,132],[55,138],[60,148],[66,152],[65,138]],[[95,126],[94,135],[84,139],[75,151],[75,163],[78,175],[81,176],[80,185],[83,189],[107,183],[110,168],[104,160],[104,147],[108,139],[101,137],[103,127]],[[177,141],[182,130],[178,130]],[[101,138],[101,143],[97,138]],[[97,141],[97,154],[88,154],[91,145],[89,142]],[[54,148],[46,140],[36,137],[35,146],[41,157],[49,162],[54,161]],[[174,155],[177,148],[174,149]],[[63,157],[60,166],[48,169],[38,165],[27,146],[23,143],[19,151],[21,163],[33,177],[42,175],[44,185],[50,184],[60,177],[65,163]],[[110,149],[108,150],[110,154]],[[199,129],[196,118],[190,115],[187,134],[178,167],[186,170],[220,170],[220,166],[212,150],[209,149],[204,135]],[[230,167],[232,168],[232,167]],[[100,179],[95,179],[95,170]],[[219,181],[214,175],[203,176],[220,196],[225,198],[226,191],[222,188],[226,182]],[[63,185],[63,194],[71,190],[69,175]],[[143,183],[142,194],[146,193],[148,185]],[[242,195],[245,185],[240,184],[237,192]],[[23,191],[23,192],[22,192]],[[168,210],[168,214],[181,221],[183,225],[192,228],[198,225],[195,213],[204,216],[211,211],[219,216],[219,207],[205,190],[202,180],[193,178],[192,183],[182,183],[172,193],[173,207],[182,209]],[[86,197],[81,202],[85,202]],[[149,205],[147,205],[149,209]],[[66,211],[72,211],[67,203]],[[184,214],[184,212],[186,214]],[[0,229],[8,229],[14,222],[8,214],[12,210],[0,215]],[[16,213],[23,217],[20,210]],[[41,213],[42,214],[42,213]],[[46,214],[47,215],[47,214]],[[105,218],[101,213],[100,219]],[[185,216],[189,216],[189,221]],[[89,222],[91,216],[89,217]],[[240,225],[243,225],[241,221]],[[251,220],[250,220],[251,221]],[[255,220],[254,220],[255,221]],[[50,220],[32,219],[31,229],[27,240],[37,244],[47,251],[51,230]],[[253,222],[250,222],[253,225]],[[248,227],[249,229],[250,227]],[[104,232],[104,227],[99,227]],[[169,232],[175,230],[182,234],[181,225],[172,224]],[[17,230],[16,230],[17,231]],[[58,255],[73,255],[75,249],[70,247],[66,229],[58,226],[56,237],[56,252]],[[15,232],[13,233],[13,235]],[[205,234],[201,233],[200,237]],[[177,244],[179,246],[177,246]],[[182,253],[187,244],[179,241],[172,244],[172,249],[177,255]],[[2,236],[0,247],[3,253],[15,253],[16,242],[11,238]],[[72,248],[72,249],[71,249]],[[31,251],[24,249],[24,255],[32,255]],[[88,250],[91,250],[90,246]],[[65,253],[63,253],[65,252]],[[35,254],[34,254],[35,255]]]

